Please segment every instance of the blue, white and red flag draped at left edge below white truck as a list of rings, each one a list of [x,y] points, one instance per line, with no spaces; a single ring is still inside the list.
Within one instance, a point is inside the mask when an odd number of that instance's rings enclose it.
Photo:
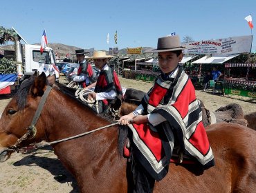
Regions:
[[[10,94],[10,85],[15,84],[17,74],[0,74],[0,94]]]

